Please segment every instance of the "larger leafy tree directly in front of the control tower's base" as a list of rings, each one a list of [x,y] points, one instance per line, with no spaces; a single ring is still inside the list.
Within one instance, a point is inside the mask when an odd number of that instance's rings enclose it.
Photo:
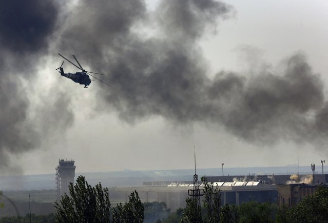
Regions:
[[[69,193],[55,202],[56,222],[109,222],[108,189],[102,189],[101,183],[91,187],[79,176],[75,186],[70,183]]]

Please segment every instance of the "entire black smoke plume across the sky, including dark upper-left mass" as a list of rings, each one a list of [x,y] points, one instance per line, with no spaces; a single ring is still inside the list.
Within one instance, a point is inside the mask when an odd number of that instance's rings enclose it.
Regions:
[[[282,73],[208,76],[199,43],[234,16],[233,7],[213,0],[163,0],[153,12],[142,0],[61,4],[0,1],[0,167],[8,165],[8,154],[38,147],[73,122],[63,92],[41,100],[35,119],[29,118],[33,102],[22,82],[33,84],[52,41],[63,55],[75,54],[90,70],[108,74],[103,80],[111,87],[91,85],[99,88],[97,109],[114,110],[128,123],[162,116],[176,124],[224,126],[250,143],[324,141],[324,86],[304,55],[288,58]]]

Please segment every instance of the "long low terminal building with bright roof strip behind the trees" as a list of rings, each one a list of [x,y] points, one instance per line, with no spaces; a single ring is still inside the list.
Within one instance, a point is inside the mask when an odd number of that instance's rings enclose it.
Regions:
[[[328,174],[316,174],[314,180],[311,174],[206,176],[206,178],[214,187],[218,186],[220,189],[222,204],[234,205],[250,200],[276,202],[279,205],[284,201],[284,204],[294,205],[302,197],[312,195],[318,185],[328,182]],[[110,193],[111,195],[121,193],[124,201],[127,201],[129,193],[137,190],[143,202],[163,201],[168,208],[176,210],[185,207],[188,190],[193,187],[193,181],[147,181],[142,187],[115,188]],[[200,189],[202,188],[200,184]],[[300,197],[296,196],[295,191]]]

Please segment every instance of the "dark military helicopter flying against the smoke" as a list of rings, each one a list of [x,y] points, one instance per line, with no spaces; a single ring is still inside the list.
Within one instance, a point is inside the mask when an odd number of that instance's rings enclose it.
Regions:
[[[75,64],[73,64],[69,59],[67,59],[65,56],[63,56],[62,54],[59,53],[59,55],[61,57],[63,57],[64,59],[66,59],[69,63],[71,63],[72,65],[74,65],[75,67],[79,68],[80,70],[82,70],[82,72],[76,72],[76,73],[64,73],[64,68],[62,68],[65,60],[63,61],[62,65],[55,69],[55,70],[58,70],[60,69],[60,74],[61,74],[61,77],[64,76],[64,77],[67,77],[71,80],[73,80],[73,82],[75,83],[79,83],[80,85],[84,85],[84,88],[87,88],[90,84],[91,84],[91,79],[89,77],[92,76],[93,78],[99,80],[100,82],[104,83],[105,85],[108,85],[107,83],[103,82],[102,80],[98,79],[97,77],[93,76],[92,74],[98,74],[98,75],[105,75],[105,74],[101,74],[101,73],[95,73],[95,72],[90,72],[90,71],[86,71],[83,69],[83,67],[81,66],[81,64],[79,63],[78,59],[76,59],[76,57],[74,55],[72,55],[74,57],[74,59],[76,60],[76,62],[78,63],[78,66],[76,66]],[[90,74],[92,73],[92,74]],[[110,85],[108,85],[110,86]]]

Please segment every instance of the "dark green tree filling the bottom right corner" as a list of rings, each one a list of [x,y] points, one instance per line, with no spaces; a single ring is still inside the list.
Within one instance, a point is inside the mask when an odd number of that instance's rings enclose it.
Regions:
[[[328,188],[319,186],[313,196],[304,197],[286,211],[287,222],[327,222]]]

